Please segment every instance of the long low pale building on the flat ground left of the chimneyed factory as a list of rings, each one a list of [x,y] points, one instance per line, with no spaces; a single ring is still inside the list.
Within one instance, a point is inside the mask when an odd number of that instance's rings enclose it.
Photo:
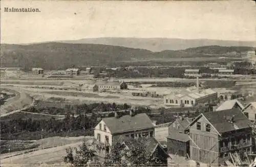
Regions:
[[[125,82],[119,81],[87,81],[81,86],[82,91],[120,90],[127,89]]]

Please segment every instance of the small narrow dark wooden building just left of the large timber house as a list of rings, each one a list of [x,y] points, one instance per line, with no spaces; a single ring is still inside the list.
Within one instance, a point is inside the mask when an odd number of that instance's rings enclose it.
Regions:
[[[191,120],[180,116],[168,127],[167,152],[187,157],[189,155],[189,136],[187,126]]]

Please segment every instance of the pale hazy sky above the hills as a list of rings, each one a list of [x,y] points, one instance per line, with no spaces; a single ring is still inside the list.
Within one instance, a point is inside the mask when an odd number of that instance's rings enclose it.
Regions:
[[[1,43],[96,37],[255,41],[256,37],[253,1],[2,0],[1,7]],[[5,7],[41,12],[8,13]]]

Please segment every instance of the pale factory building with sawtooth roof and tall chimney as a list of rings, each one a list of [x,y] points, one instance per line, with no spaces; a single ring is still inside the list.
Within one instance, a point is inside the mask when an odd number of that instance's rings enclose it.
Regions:
[[[212,89],[201,89],[199,87],[199,77],[197,77],[196,88],[186,89],[181,92],[170,93],[163,98],[166,106],[194,106],[198,103],[207,103],[208,101],[217,100],[218,92]]]

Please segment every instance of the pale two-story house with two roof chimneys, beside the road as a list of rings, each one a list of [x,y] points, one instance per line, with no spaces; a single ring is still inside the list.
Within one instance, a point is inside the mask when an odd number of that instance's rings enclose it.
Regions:
[[[121,137],[154,137],[155,126],[151,119],[145,114],[129,115],[103,118],[94,128],[94,148],[99,160],[103,160],[110,153],[110,148]]]

